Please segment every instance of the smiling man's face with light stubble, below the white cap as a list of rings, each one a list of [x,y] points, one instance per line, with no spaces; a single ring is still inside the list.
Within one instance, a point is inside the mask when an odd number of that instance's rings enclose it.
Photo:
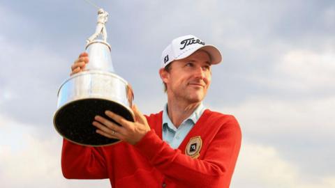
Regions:
[[[211,59],[207,52],[198,50],[187,58],[170,65],[170,71],[161,71],[168,88],[168,97],[191,104],[200,102],[211,84]]]

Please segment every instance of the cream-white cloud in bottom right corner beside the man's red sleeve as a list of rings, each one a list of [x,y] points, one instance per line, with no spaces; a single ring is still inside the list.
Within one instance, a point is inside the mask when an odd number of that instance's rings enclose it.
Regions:
[[[297,164],[283,159],[276,148],[245,141],[231,187],[328,188],[334,187],[334,178],[335,174],[308,179]]]

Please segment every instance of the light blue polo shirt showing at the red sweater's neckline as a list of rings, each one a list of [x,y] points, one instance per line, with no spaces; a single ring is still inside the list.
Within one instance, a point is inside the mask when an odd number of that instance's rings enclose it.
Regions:
[[[191,131],[192,127],[197,123],[200,116],[204,112],[205,108],[202,103],[193,111],[191,116],[186,118],[179,127],[175,127],[171,122],[168,116],[168,104],[165,104],[165,108],[163,109],[163,141],[167,142],[171,148],[178,148],[180,143],[185,139],[188,132]]]

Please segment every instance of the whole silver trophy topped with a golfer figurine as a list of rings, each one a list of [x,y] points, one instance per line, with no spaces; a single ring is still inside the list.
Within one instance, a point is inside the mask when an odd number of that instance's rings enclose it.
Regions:
[[[97,134],[96,127],[92,125],[94,116],[107,118],[105,111],[110,110],[134,121],[131,110],[133,90],[126,80],[114,73],[111,47],[106,42],[107,17],[105,10],[98,10],[96,32],[87,39],[89,63],[84,71],[61,84],[54,113],[57,132],[65,139],[84,146],[106,146],[119,141]],[[102,40],[97,39],[100,34]]]

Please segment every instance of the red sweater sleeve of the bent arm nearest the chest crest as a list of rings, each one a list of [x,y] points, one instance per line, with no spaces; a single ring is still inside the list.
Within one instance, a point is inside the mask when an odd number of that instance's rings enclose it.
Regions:
[[[241,130],[233,116],[218,130],[202,159],[172,149],[154,130],[135,145],[167,178],[187,187],[229,187],[240,146]]]

